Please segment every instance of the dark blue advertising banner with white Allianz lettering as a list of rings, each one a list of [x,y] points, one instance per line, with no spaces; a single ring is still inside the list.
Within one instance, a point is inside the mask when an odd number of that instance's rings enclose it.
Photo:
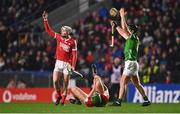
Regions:
[[[152,103],[180,103],[180,84],[145,84],[145,93]],[[143,102],[138,90],[128,85],[128,102]]]

